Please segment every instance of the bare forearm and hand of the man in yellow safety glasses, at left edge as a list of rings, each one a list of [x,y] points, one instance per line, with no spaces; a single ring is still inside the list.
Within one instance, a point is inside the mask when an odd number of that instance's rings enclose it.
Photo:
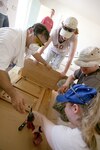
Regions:
[[[23,113],[25,112],[25,103],[23,96],[16,91],[10,82],[6,71],[0,70],[0,88],[2,88],[10,97],[13,107]]]

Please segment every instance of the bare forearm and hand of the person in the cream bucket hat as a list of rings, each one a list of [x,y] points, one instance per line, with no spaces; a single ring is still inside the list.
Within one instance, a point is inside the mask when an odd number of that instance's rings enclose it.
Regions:
[[[65,93],[69,89],[70,84],[72,84],[74,80],[75,80],[74,74],[70,75],[67,78],[66,82],[58,89],[58,92]]]

